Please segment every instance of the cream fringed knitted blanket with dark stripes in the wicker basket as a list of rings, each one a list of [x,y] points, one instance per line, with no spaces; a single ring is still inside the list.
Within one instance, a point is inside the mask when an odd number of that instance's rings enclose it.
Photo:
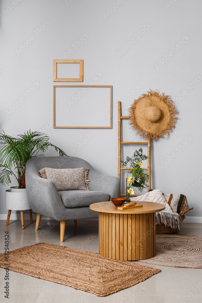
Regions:
[[[172,195],[172,194],[164,195],[160,189],[154,189],[152,191],[147,192],[145,195],[131,198],[131,201],[149,201],[149,202],[155,202],[165,205],[166,207],[165,210],[156,212],[156,224],[163,223],[165,224],[165,226],[170,226],[171,228],[178,228],[178,230],[180,230],[180,227],[182,225],[182,220],[177,211],[173,212],[174,209],[171,208],[172,200],[173,200],[172,205],[174,205],[174,208],[176,208],[176,210],[178,208],[178,210],[181,209],[182,211],[182,208],[184,209],[184,207],[188,206],[186,205],[187,202],[186,196]],[[176,202],[177,202],[177,207],[176,207]],[[180,204],[180,208],[178,204]],[[182,207],[183,204],[184,207]]]

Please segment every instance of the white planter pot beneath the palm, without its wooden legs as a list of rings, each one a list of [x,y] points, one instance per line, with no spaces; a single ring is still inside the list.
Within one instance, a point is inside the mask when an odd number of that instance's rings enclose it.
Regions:
[[[28,202],[26,188],[18,188],[18,186],[12,186],[11,189],[6,190],[5,208],[19,211],[31,209],[31,205]]]

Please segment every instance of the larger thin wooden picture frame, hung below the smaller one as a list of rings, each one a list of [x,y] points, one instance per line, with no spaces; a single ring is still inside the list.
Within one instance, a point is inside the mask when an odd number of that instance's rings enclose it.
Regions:
[[[55,88],[57,87],[102,87],[102,88],[110,88],[110,125],[109,126],[56,126],[55,125]],[[64,110],[64,109],[63,109]],[[53,86],[53,128],[112,128],[112,85],[54,85]]]

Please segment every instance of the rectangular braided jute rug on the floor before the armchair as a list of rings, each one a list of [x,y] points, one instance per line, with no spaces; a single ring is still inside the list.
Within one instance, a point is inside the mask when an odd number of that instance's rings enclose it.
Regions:
[[[131,287],[160,272],[129,261],[104,258],[97,253],[37,243],[9,253],[9,269],[104,297]],[[0,254],[5,267],[5,254]]]

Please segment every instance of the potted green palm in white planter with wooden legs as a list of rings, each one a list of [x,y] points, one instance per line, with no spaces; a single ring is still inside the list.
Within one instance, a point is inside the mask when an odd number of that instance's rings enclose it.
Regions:
[[[5,208],[8,209],[8,225],[11,210],[21,211],[22,228],[24,228],[23,210],[29,209],[30,220],[32,221],[31,206],[28,203],[25,185],[25,168],[26,162],[35,157],[43,156],[39,152],[44,153],[49,147],[53,147],[59,152],[59,156],[67,156],[57,146],[49,142],[49,136],[41,132],[27,131],[17,137],[6,135],[3,131],[0,134],[1,145],[1,163],[3,168],[0,172],[0,183],[2,185],[11,183],[11,176],[18,181],[18,186],[12,186],[10,190],[5,192]]]

